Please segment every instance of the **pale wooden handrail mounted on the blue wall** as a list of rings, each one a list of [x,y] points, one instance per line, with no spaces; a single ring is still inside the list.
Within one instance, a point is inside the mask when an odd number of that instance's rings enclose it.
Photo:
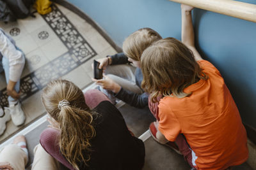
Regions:
[[[188,4],[207,11],[221,13],[231,17],[256,22],[256,4],[233,0],[170,0],[176,3]]]

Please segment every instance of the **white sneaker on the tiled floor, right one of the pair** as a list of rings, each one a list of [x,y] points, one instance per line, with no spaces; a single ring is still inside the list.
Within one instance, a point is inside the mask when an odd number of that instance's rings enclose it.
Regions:
[[[11,104],[9,108],[4,108],[4,112],[10,113],[13,124],[17,126],[24,124],[26,117],[19,102]]]

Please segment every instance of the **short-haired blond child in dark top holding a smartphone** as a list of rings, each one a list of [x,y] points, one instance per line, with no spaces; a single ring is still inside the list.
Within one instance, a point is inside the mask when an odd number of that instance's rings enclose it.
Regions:
[[[142,28],[128,36],[123,44],[124,53],[108,55],[100,62],[99,69],[104,69],[104,79],[95,80],[105,91],[105,94],[115,104],[115,98],[124,101],[136,108],[148,106],[148,94],[141,89],[143,75],[140,69],[142,52],[154,41],[162,39],[150,28]],[[131,66],[131,63],[133,66]]]

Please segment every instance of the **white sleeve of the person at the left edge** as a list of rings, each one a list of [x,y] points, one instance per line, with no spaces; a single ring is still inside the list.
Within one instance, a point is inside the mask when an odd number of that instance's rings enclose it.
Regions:
[[[25,59],[22,52],[15,48],[15,45],[2,31],[0,31],[0,52],[9,61],[9,79],[15,82],[19,81],[25,65]]]

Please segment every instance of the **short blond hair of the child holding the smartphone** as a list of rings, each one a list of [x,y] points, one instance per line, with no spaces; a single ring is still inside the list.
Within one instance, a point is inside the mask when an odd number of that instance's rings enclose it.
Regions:
[[[132,60],[140,61],[143,51],[159,39],[162,39],[162,37],[153,29],[142,28],[133,32],[125,39],[123,51]]]

